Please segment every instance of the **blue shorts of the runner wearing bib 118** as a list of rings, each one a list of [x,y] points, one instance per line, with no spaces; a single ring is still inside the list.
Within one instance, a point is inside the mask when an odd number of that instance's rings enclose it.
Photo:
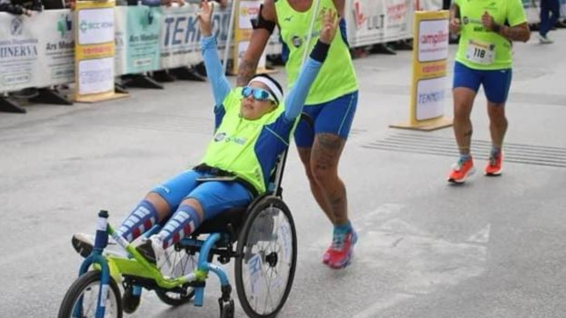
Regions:
[[[454,63],[453,88],[466,87],[477,93],[481,84],[488,101],[502,103],[507,101],[509,88],[511,87],[511,76],[511,68],[503,70],[473,70],[456,61]]]

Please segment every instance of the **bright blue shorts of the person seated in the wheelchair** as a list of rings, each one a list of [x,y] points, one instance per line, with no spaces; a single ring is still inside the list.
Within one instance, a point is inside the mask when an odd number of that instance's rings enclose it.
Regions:
[[[163,197],[173,211],[186,198],[199,201],[203,207],[205,220],[231,208],[245,208],[251,203],[252,195],[241,183],[234,181],[196,181],[197,178],[206,176],[205,173],[186,170],[159,184],[153,188],[152,192]]]

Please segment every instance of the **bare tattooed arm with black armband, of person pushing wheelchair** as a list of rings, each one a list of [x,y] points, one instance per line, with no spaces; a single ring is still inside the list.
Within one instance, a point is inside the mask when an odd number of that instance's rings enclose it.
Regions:
[[[254,31],[251,33],[250,45],[248,45],[242,57],[242,62],[238,66],[237,86],[245,86],[251,77],[255,75],[261,54],[263,54],[276,25],[275,2],[273,0],[265,0],[263,5],[260,6],[258,19],[253,25]]]

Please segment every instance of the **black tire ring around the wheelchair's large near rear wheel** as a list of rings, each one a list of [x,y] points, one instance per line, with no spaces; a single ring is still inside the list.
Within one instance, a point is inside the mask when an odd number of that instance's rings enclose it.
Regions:
[[[291,253],[291,267],[289,269],[289,277],[287,281],[287,286],[285,287],[285,291],[281,297],[281,302],[277,305],[273,312],[268,313],[266,315],[260,315],[259,313],[255,312],[254,309],[251,307],[248,299],[246,297],[246,291],[243,283],[243,253],[244,247],[246,246],[247,237],[250,232],[252,224],[254,224],[254,220],[258,215],[263,212],[265,208],[271,207],[278,208],[281,210],[282,213],[286,216],[289,220],[289,225],[291,227],[291,237],[293,239],[293,252]],[[287,298],[289,297],[289,293],[291,291],[291,287],[293,287],[293,280],[295,277],[295,270],[297,269],[297,230],[295,229],[295,222],[293,220],[293,216],[291,215],[291,211],[289,207],[278,197],[274,196],[266,196],[263,197],[258,201],[257,204],[254,204],[253,207],[246,213],[245,222],[242,226],[242,230],[240,231],[239,238],[238,238],[238,245],[236,249],[236,253],[238,257],[235,259],[235,284],[236,284],[236,291],[238,293],[238,299],[242,306],[242,309],[246,312],[246,314],[251,318],[273,318],[276,317],[277,314],[281,311],[283,306],[285,305]]]

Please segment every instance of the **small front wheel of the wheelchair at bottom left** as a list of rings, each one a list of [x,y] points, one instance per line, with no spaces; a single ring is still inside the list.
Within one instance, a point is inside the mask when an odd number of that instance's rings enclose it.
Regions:
[[[110,277],[110,288],[104,317],[122,318],[122,302],[117,283]],[[79,277],[67,291],[58,318],[96,317],[98,291],[100,289],[100,272],[91,270]],[[81,306],[79,306],[81,305]],[[76,307],[76,308],[75,308]]]

